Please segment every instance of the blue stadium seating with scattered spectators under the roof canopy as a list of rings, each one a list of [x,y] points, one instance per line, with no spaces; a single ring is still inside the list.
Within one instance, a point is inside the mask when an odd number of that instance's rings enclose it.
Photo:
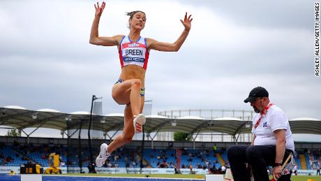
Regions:
[[[67,147],[62,145],[1,145],[0,147],[0,165],[1,166],[20,166],[20,164],[27,164],[28,161],[33,161],[40,166],[49,166],[47,156],[56,152],[60,156],[60,160],[65,164],[62,166],[79,166],[78,148],[70,147],[70,157],[67,159]],[[98,148],[93,150],[94,159],[99,152]],[[105,163],[105,167],[140,167],[140,149],[133,147],[122,147],[114,151]],[[318,168],[318,160],[320,154],[318,152],[301,152],[304,155],[305,164],[307,169],[311,169],[311,166]],[[8,159],[9,158],[9,159]],[[310,160],[313,159],[313,164]],[[83,167],[89,165],[89,148],[83,147],[81,151],[81,163]],[[297,163],[298,168],[301,168],[300,157],[294,157],[294,161]],[[150,168],[174,168],[177,164],[176,150],[175,149],[144,149],[144,167]],[[214,153],[213,150],[200,149],[181,149],[181,168],[204,168],[209,167],[221,168],[222,164],[227,165],[228,160],[226,150],[217,150]]]

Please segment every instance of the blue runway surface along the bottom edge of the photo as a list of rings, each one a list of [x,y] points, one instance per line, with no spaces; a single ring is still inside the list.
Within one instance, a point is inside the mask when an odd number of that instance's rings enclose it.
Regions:
[[[1,181],[20,181],[20,175],[0,174]],[[43,181],[195,181],[202,179],[179,179],[179,178],[107,178],[107,177],[90,177],[90,176],[46,176],[43,175]]]

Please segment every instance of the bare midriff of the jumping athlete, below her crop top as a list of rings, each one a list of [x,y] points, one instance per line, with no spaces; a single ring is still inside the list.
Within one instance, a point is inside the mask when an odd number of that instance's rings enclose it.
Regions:
[[[145,73],[146,70],[141,66],[128,65],[121,68],[119,78],[122,80],[140,79],[140,81],[142,81],[142,87],[145,87]]]

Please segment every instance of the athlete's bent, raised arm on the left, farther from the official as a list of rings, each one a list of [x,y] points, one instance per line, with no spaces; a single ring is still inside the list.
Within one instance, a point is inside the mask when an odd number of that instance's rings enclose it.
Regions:
[[[102,37],[98,36],[98,25],[99,25],[99,20],[100,16],[103,13],[103,10],[105,8],[105,2],[99,6],[99,3],[97,2],[97,5],[95,4],[95,18],[93,25],[91,26],[91,33],[90,33],[90,38],[89,38],[89,43],[94,44],[94,45],[103,45],[103,46],[114,46],[118,45],[119,41],[121,38],[123,38],[122,35],[117,35],[117,36],[112,36],[112,37]]]

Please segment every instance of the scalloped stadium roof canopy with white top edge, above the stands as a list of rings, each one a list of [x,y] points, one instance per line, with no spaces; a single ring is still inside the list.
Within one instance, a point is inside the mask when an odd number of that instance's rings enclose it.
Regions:
[[[10,126],[20,130],[26,128],[50,128],[61,131],[77,130],[82,123],[82,129],[88,129],[89,112],[61,113],[58,110],[40,109],[27,110],[20,106],[0,108],[0,125]],[[301,117],[290,120],[292,133],[321,134],[321,120]],[[121,131],[124,127],[124,114],[93,115],[91,129],[98,131]],[[235,117],[221,117],[206,120],[202,117],[179,117],[170,119],[160,115],[147,115],[144,124],[146,133],[163,131],[181,131],[186,133],[220,132],[230,135],[251,133],[252,122]],[[35,129],[35,131],[36,131]]]

